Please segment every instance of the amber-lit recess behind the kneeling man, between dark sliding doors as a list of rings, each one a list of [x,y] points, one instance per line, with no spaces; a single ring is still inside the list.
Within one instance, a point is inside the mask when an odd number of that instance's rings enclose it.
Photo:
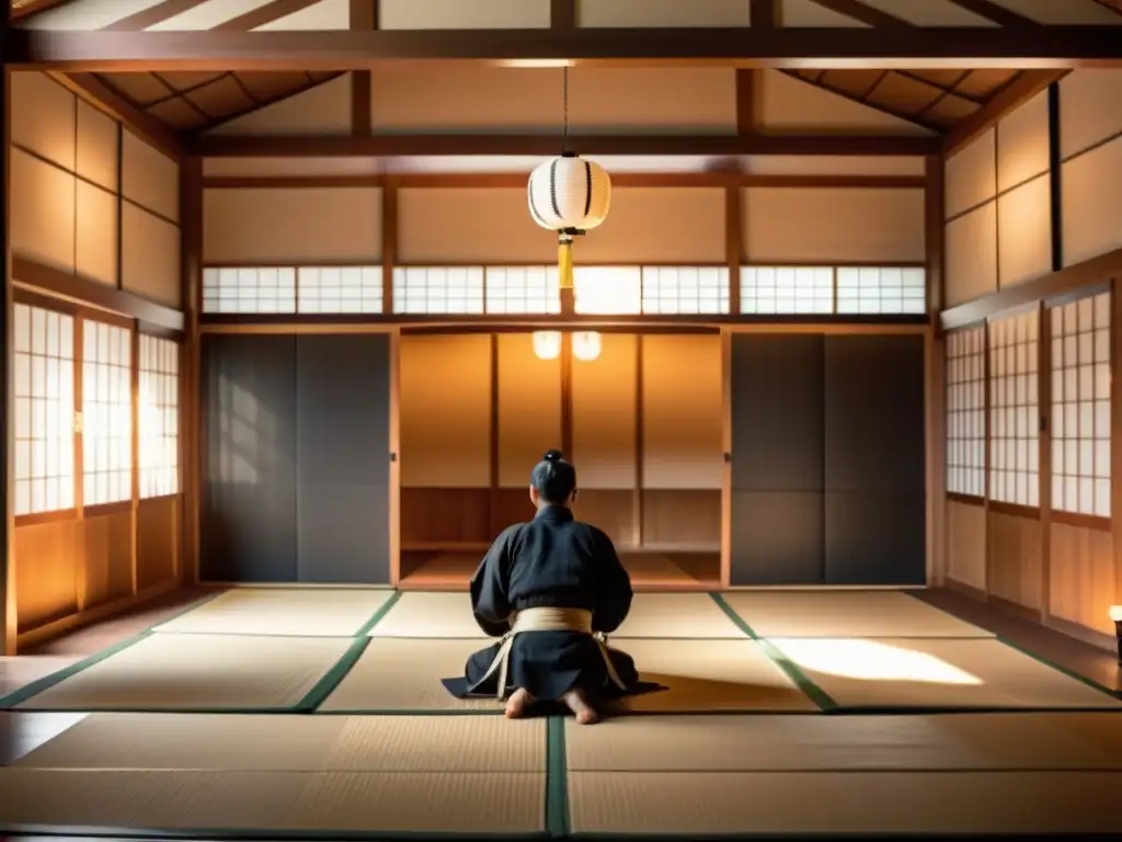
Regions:
[[[401,586],[461,589],[507,525],[530,520],[530,470],[577,465],[577,518],[615,541],[636,589],[720,582],[717,335],[601,335],[540,359],[530,332],[401,344]]]

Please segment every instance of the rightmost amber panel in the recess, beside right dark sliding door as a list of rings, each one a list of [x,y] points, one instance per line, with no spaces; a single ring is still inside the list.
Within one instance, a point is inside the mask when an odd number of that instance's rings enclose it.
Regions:
[[[719,336],[646,336],[643,342],[643,487],[721,487]]]

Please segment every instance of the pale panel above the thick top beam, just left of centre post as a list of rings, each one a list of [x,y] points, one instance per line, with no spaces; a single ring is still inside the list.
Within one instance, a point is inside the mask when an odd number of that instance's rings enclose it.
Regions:
[[[548,29],[550,0],[371,0],[379,29]]]

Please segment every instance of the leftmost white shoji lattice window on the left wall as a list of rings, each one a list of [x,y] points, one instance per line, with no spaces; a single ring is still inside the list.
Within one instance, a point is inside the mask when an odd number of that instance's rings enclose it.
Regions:
[[[74,319],[16,304],[13,510],[74,507]]]

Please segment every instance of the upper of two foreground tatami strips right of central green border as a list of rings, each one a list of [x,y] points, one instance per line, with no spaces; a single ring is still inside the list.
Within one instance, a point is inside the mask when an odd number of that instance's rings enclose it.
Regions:
[[[1091,720],[1114,744],[1061,716]],[[625,716],[565,729],[571,771],[1122,770],[1122,717],[1110,714]]]

